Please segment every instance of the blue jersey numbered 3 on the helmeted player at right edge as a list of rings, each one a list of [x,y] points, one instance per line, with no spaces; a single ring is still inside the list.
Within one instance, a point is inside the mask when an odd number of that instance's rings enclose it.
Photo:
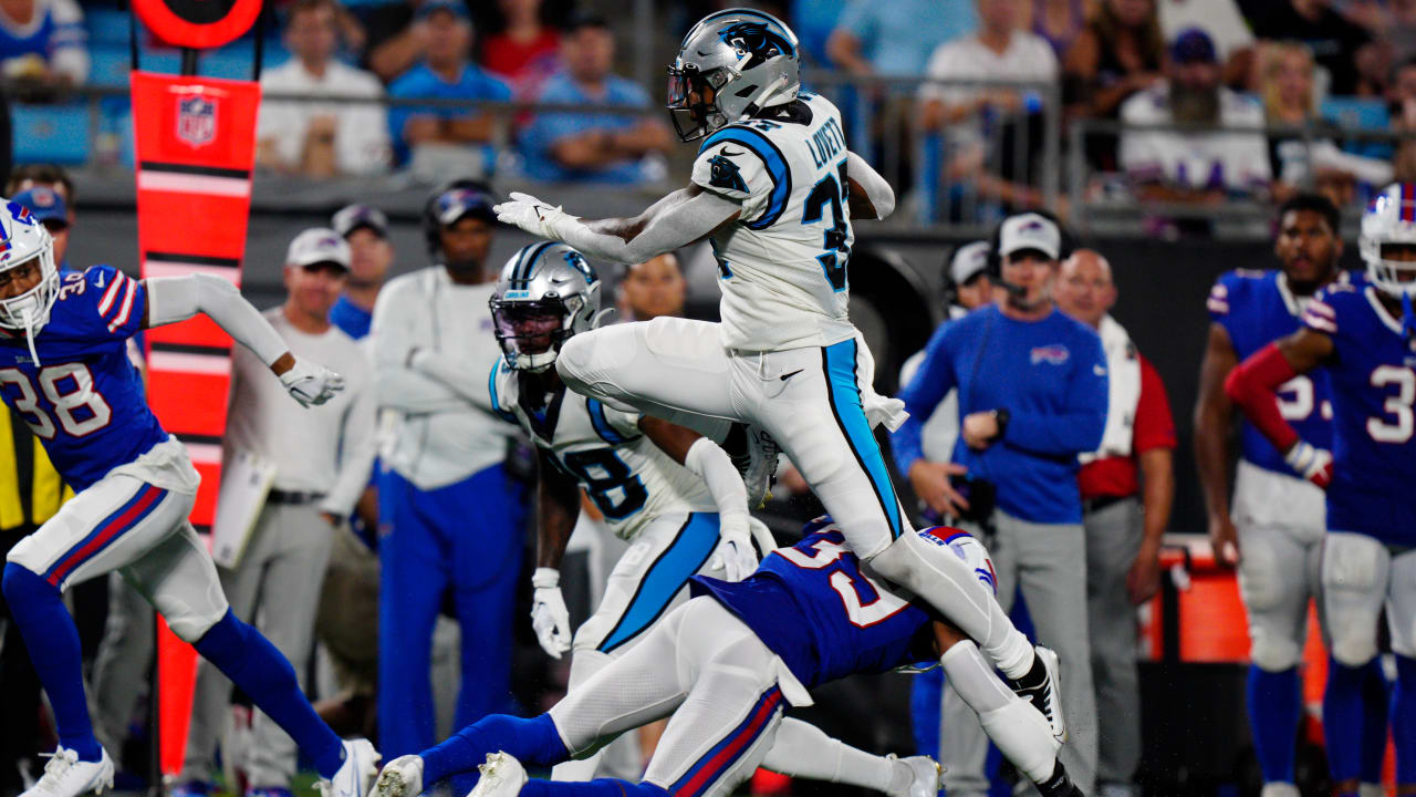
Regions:
[[[1416,340],[1371,285],[1327,288],[1303,322],[1334,345],[1328,529],[1416,545]]]

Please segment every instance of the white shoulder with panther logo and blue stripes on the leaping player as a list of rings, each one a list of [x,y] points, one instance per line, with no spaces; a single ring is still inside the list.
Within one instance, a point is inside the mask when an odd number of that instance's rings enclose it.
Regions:
[[[694,160],[692,182],[739,201],[766,199],[759,227],[776,221],[792,194],[792,170],[782,149],[749,125],[728,125],[708,136]]]

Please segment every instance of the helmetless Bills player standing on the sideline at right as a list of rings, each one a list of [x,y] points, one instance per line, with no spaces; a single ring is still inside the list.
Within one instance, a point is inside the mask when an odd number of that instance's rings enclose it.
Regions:
[[[1249,728],[1253,732],[1263,797],[1296,797],[1294,739],[1303,716],[1298,661],[1303,658],[1308,598],[1320,598],[1318,562],[1327,525],[1323,491],[1308,474],[1273,447],[1250,423],[1242,425],[1242,457],[1229,499],[1229,435],[1233,407],[1225,396],[1225,379],[1235,366],[1269,343],[1291,335],[1301,323],[1313,295],[1334,284],[1347,284],[1338,267],[1342,257],[1341,217],[1323,196],[1298,194],[1279,208],[1279,234],[1273,254],[1281,268],[1229,271],[1219,277],[1206,302],[1209,343],[1199,366],[1199,400],[1195,404],[1195,461],[1209,508],[1209,536],[1215,557],[1235,564],[1249,615]],[[1315,448],[1331,448],[1331,391],[1328,376],[1297,376],[1280,387],[1283,418]],[[1314,464],[1310,462],[1308,468]],[[1328,620],[1320,613],[1320,617]],[[1330,635],[1324,627],[1324,635]],[[1385,750],[1386,695],[1374,667],[1366,712],[1369,750],[1362,781],[1372,794],[1381,790]]]

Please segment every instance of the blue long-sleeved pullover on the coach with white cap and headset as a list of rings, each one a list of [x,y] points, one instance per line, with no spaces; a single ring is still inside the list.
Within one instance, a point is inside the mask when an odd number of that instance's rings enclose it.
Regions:
[[[994,482],[998,508],[1034,523],[1082,522],[1078,454],[1096,451],[1106,428],[1102,339],[1054,309],[1015,321],[995,306],[943,325],[899,397],[909,420],[891,435],[901,472],[922,455],[920,430],[950,389],[960,423],[970,413],[1007,408],[1008,427],[984,451],[954,444],[953,461]]]

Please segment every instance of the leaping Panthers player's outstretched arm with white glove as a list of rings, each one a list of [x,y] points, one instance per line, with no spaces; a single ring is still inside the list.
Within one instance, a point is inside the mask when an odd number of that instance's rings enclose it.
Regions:
[[[497,218],[532,235],[564,241],[590,258],[644,262],[698,241],[738,218],[742,204],[697,184],[680,189],[634,218],[583,221],[523,193],[496,206]]]

